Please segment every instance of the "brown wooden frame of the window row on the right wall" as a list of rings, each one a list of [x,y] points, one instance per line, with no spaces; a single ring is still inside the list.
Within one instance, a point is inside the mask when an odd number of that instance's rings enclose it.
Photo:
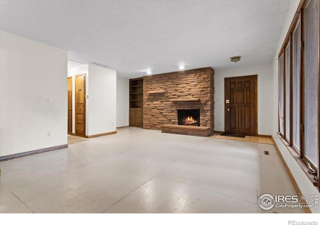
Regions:
[[[304,155],[304,137],[305,137],[305,133],[304,133],[304,126],[305,126],[305,121],[304,121],[304,111],[305,111],[305,101],[304,101],[304,78],[305,78],[305,74],[304,74],[304,54],[305,54],[305,50],[304,50],[304,40],[305,40],[305,35],[304,35],[304,8],[306,7],[306,5],[308,4],[310,0],[300,0],[300,3],[298,5],[297,11],[291,21],[290,27],[287,31],[287,35],[283,41],[283,44],[280,48],[280,51],[278,53],[278,81],[280,80],[280,56],[284,56],[284,65],[283,65],[283,123],[284,123],[284,128],[283,128],[283,133],[280,132],[280,108],[278,108],[278,136],[280,137],[280,139],[282,140],[282,142],[286,145],[286,147],[288,148],[288,150],[291,152],[291,154],[294,156],[294,158],[297,160],[297,162],[300,164],[301,168],[304,170],[304,172],[307,174],[308,178],[310,179],[311,182],[313,182],[313,184],[315,186],[320,186],[320,183],[318,181],[315,181],[313,179],[314,175],[311,175],[310,172],[308,171],[308,168],[306,166],[306,162],[309,162],[311,164],[311,167],[313,167],[313,169],[316,169],[317,171],[317,179],[319,180],[319,173],[320,173],[320,132],[318,132],[318,141],[317,141],[317,157],[318,157],[318,163],[317,165],[315,165],[311,160],[308,159],[307,156]],[[318,18],[319,18],[319,23],[320,23],[320,2],[318,2]],[[300,31],[300,60],[299,60],[299,74],[298,74],[298,79],[300,82],[300,86],[299,86],[299,119],[300,119],[300,126],[296,127],[296,129],[299,131],[299,145],[300,145],[300,149],[297,149],[297,147],[294,146],[293,144],[293,32],[296,29],[298,22],[300,22],[300,27],[299,27],[299,31]],[[290,51],[290,71],[288,74],[286,74],[286,49],[287,46],[289,45],[289,51]],[[317,92],[318,92],[318,113],[317,113],[317,117],[318,117],[318,128],[320,127],[320,25],[318,26],[318,54],[317,54],[317,71],[318,71],[318,75],[317,75]],[[289,98],[289,118],[287,118],[286,116],[286,75],[289,75],[289,81],[290,81],[290,98]],[[278,90],[280,90],[280,83],[278,82]],[[278,107],[280,106],[280,93],[278,92]],[[286,120],[289,120],[289,130],[286,130]],[[302,134],[301,134],[301,130],[302,129]],[[287,135],[286,132],[289,132],[289,134]],[[286,137],[289,137],[286,138]]]

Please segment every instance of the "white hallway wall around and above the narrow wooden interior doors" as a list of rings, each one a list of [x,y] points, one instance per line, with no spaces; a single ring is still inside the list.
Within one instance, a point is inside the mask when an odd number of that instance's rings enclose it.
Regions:
[[[68,69],[67,76],[72,76],[72,133],[75,133],[75,75],[85,73],[85,91],[87,92],[88,88],[88,64],[83,64],[77,67],[72,67]],[[85,105],[85,120],[87,121],[87,105]],[[87,133],[87,131],[86,131]]]

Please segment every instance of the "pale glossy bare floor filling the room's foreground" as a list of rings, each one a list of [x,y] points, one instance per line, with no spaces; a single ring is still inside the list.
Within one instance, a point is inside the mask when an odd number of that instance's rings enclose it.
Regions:
[[[117,131],[1,161],[0,213],[304,212],[257,205],[296,194],[272,144]]]

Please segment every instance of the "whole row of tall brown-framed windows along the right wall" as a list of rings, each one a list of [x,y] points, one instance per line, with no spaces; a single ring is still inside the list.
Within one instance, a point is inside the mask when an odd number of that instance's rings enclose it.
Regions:
[[[318,179],[319,8],[318,0],[300,1],[278,54],[279,132],[300,156],[299,163],[309,162]]]

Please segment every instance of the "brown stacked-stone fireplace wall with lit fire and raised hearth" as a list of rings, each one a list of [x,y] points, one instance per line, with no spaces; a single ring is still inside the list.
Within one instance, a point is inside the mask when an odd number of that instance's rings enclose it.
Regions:
[[[211,134],[213,76],[211,67],[144,76],[143,128],[200,136]],[[179,119],[180,116],[184,118]]]

